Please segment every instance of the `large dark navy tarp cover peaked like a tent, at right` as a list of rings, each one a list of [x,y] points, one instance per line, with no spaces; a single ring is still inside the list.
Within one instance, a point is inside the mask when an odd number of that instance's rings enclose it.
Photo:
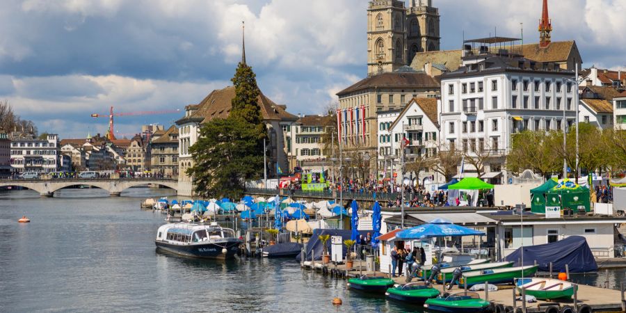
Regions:
[[[538,271],[547,272],[552,262],[553,272],[565,272],[568,264],[570,273],[587,273],[597,271],[591,248],[583,236],[569,236],[563,240],[543,245],[524,248],[524,265],[539,265]],[[521,266],[522,248],[508,255],[506,261],[515,262],[513,266]]]

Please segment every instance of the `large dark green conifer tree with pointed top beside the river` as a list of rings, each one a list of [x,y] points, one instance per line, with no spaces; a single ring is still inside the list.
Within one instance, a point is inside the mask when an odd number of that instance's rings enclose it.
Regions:
[[[255,73],[239,63],[232,78],[235,97],[228,118],[202,125],[200,137],[190,149],[195,193],[202,197],[239,198],[244,183],[263,172],[263,140],[266,128],[257,99],[261,92]]]

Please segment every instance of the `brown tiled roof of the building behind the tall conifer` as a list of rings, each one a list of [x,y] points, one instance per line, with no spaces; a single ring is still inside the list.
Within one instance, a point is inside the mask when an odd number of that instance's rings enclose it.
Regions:
[[[232,109],[232,99],[235,96],[233,86],[213,90],[198,104],[195,111],[188,118],[202,118],[202,122],[209,122],[214,118],[227,118]],[[257,98],[263,120],[297,120],[298,117],[284,110],[284,106],[275,104],[263,93]]]

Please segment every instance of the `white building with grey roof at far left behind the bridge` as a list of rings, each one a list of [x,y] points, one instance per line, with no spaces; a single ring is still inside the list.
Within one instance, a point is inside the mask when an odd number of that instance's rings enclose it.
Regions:
[[[13,172],[56,172],[58,170],[58,135],[39,139],[24,132],[11,133]]]

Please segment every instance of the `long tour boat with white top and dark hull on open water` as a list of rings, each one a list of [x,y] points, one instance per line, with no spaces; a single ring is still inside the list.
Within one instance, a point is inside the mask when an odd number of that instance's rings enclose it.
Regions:
[[[159,227],[157,248],[185,257],[229,259],[239,251],[243,241],[230,228],[217,223],[172,223]]]

